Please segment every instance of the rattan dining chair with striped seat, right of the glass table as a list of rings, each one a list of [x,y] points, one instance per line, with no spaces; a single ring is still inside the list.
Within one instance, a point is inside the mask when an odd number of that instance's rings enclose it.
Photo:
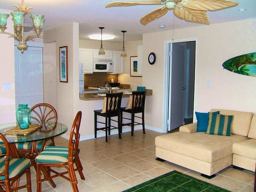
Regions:
[[[70,181],[73,191],[78,192],[77,179],[75,171],[78,171],[80,178],[85,180],[84,174],[82,173],[83,167],[79,159],[79,128],[82,118],[82,112],[78,111],[74,119],[72,129],[70,132],[69,144],[67,147],[61,146],[46,146],[46,148],[36,157],[36,180],[37,180],[37,192],[41,191],[42,182],[61,176],[62,178]],[[76,164],[76,168],[74,168]],[[57,172],[51,167],[63,167],[66,168],[65,172]],[[52,174],[48,176],[44,175],[42,178],[42,169],[48,170]],[[68,174],[66,176],[65,174]]]

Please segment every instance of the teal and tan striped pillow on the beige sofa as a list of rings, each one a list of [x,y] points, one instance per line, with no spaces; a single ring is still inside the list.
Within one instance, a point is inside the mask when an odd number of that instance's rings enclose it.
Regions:
[[[209,122],[206,133],[231,136],[231,123],[233,115],[221,115],[209,113]]]

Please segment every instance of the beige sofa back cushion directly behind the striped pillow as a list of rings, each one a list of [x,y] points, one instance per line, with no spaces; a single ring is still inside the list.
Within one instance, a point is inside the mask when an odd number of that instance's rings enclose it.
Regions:
[[[226,109],[211,109],[210,112],[220,111],[222,115],[233,115],[234,118],[231,124],[231,134],[248,136],[252,121],[252,112],[242,112]]]

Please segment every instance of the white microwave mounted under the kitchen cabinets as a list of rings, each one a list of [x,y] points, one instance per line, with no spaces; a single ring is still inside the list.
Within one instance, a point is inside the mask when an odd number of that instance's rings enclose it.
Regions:
[[[93,59],[93,72],[113,72],[114,66],[109,59]]]

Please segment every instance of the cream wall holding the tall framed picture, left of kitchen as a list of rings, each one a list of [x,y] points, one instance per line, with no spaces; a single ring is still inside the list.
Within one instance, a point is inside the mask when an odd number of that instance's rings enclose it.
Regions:
[[[58,122],[66,124],[69,128],[66,135],[70,134],[70,128],[77,113],[77,111],[74,110],[74,100],[79,98],[78,30],[78,23],[70,23],[44,32],[44,44],[51,43],[47,45],[47,48],[55,51],[55,54],[52,55],[49,55],[49,53],[47,53],[48,56],[44,54],[44,60],[53,62],[52,56],[54,57],[54,55],[56,55],[56,90],[54,90],[53,86],[52,90],[49,90],[50,93],[44,90],[44,94],[49,95],[52,92],[52,102],[54,102],[54,98],[56,97]],[[68,83],[60,82],[59,79],[59,47],[62,46],[68,46]],[[54,63],[52,65],[54,65]],[[54,69],[54,67],[52,67],[52,69]]]

